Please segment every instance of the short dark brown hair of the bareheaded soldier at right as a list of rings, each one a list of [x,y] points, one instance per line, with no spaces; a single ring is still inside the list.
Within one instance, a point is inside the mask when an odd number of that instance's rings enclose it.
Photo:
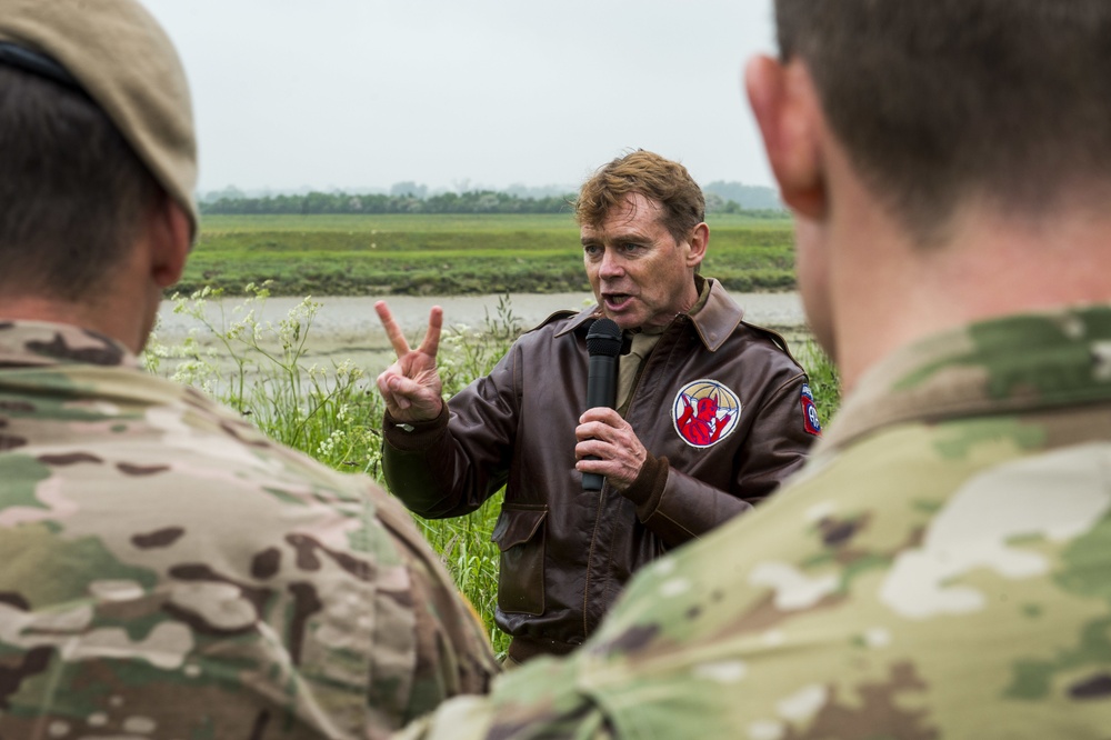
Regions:
[[[1037,212],[1111,186],[1111,2],[777,0],[781,54],[925,241],[970,197]]]

